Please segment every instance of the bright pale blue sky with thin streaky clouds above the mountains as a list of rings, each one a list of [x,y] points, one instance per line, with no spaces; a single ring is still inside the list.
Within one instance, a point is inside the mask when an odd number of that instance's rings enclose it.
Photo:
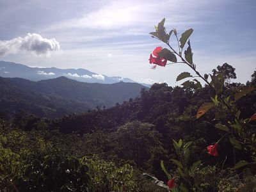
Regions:
[[[148,63],[157,46],[166,47],[148,33],[166,18],[166,31],[194,29],[189,39],[200,73],[228,63],[234,82],[246,83],[256,68],[255,10],[255,0],[1,0],[0,60],[180,85],[181,72],[193,74],[188,66],[152,70]]]

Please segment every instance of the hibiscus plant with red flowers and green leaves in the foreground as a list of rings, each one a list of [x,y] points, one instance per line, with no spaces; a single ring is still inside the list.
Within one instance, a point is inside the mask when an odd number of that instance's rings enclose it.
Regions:
[[[161,67],[165,67],[169,64],[175,64],[175,63],[184,63],[185,65],[188,65],[193,72],[195,72],[196,76],[192,76],[189,72],[182,72],[176,79],[176,81],[180,81],[182,79],[186,78],[194,78],[199,77],[204,83],[209,86],[214,92],[216,93],[214,97],[211,97],[212,102],[204,103],[197,111],[196,118],[200,118],[202,115],[207,113],[209,109],[216,108],[216,120],[219,122],[215,125],[216,128],[221,129],[222,131],[227,132],[224,134],[222,138],[229,135],[230,143],[236,148],[236,150],[241,150],[242,152],[250,153],[251,157],[251,163],[248,163],[247,161],[239,161],[236,162],[236,152],[234,150],[234,169],[241,168],[242,166],[246,166],[248,164],[255,164],[256,163],[256,138],[255,138],[255,129],[253,129],[252,126],[250,126],[250,122],[253,120],[256,120],[256,115],[252,115],[252,117],[249,118],[241,118],[241,111],[237,109],[236,102],[237,100],[241,99],[244,95],[253,92],[255,90],[252,86],[239,86],[236,88],[235,93],[233,95],[225,95],[224,94],[224,83],[225,83],[225,74],[222,72],[218,74],[200,74],[198,70],[196,70],[196,65],[193,63],[193,52],[191,49],[191,44],[189,40],[189,36],[193,33],[193,29],[188,29],[182,35],[180,36],[180,39],[178,38],[178,33],[176,29],[172,29],[169,33],[166,33],[166,28],[164,27],[165,19],[161,20],[157,26],[155,26],[156,31],[150,33],[153,38],[157,38],[158,40],[161,40],[164,42],[164,44],[167,45],[168,49],[163,47],[156,47],[156,49],[153,51],[153,55],[150,54],[149,63],[155,64],[154,67],[156,68],[156,65],[159,65]],[[170,37],[173,36],[177,40],[178,49],[175,50],[173,48],[173,45],[170,44]],[[186,42],[188,42],[188,47],[185,51],[183,51]],[[167,63],[167,61],[170,61],[171,63]],[[211,76],[211,81],[208,81],[209,76]],[[198,79],[193,79],[193,83],[197,87],[202,88],[202,85]],[[185,88],[191,84],[191,81],[185,81],[182,83],[182,86]],[[230,90],[231,91],[231,90]],[[221,111],[221,113],[219,113]],[[223,115],[221,115],[223,114]],[[229,117],[228,120],[227,116]],[[220,140],[221,140],[220,139]],[[219,141],[220,141],[219,140]],[[218,142],[216,142],[214,145],[209,145],[207,147],[208,153],[211,156],[218,156]],[[180,153],[182,150],[182,140],[177,143],[173,140],[173,145],[175,147],[175,150],[177,154],[180,157],[180,161],[177,161],[175,159],[172,159],[173,163],[177,164],[178,166],[178,172],[180,177],[183,179],[179,186],[180,191],[194,191],[196,184],[193,182],[193,178],[191,178],[191,175],[189,174],[188,164],[184,159],[186,157],[184,154]],[[186,150],[185,150],[186,151]],[[194,163],[196,166],[200,163]],[[194,165],[193,164],[193,165]],[[163,162],[161,162],[162,169],[164,170],[164,173],[168,176],[168,179],[170,181],[170,174],[166,171],[166,169],[163,166]],[[193,167],[193,166],[192,166]],[[158,182],[161,183],[161,182]],[[171,182],[170,182],[171,183]],[[163,186],[163,183],[161,183]],[[161,186],[160,185],[160,186]],[[166,186],[164,186],[166,188]],[[255,182],[256,187],[256,182]],[[168,188],[169,189],[169,188]],[[177,188],[178,189],[178,188]],[[173,190],[173,189],[172,189]]]

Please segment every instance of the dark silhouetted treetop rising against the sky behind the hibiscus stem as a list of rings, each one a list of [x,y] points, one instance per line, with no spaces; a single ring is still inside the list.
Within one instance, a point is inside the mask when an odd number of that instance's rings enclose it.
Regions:
[[[227,83],[230,83],[230,79],[236,79],[236,68],[232,67],[231,65],[228,65],[228,63],[224,63],[223,65],[218,65],[217,70],[214,68],[212,70],[212,73],[216,76],[220,73],[224,74],[225,79],[227,80]]]

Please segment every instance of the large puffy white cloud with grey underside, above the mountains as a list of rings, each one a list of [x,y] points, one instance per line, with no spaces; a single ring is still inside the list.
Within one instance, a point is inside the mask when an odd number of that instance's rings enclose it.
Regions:
[[[18,52],[34,52],[35,54],[50,54],[51,51],[60,50],[60,44],[55,38],[43,38],[36,33],[28,33],[24,37],[0,40],[0,56],[15,54]]]

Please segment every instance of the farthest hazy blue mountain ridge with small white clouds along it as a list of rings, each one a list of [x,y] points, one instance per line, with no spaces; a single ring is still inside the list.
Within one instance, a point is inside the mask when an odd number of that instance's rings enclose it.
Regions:
[[[123,77],[108,77],[103,74],[96,74],[83,68],[45,68],[45,67],[29,67],[19,63],[0,61],[0,76],[1,77],[19,77],[23,79],[29,79],[31,81],[40,81],[44,79],[52,79],[56,77],[65,76],[69,79],[86,83],[102,83],[111,84],[118,83],[120,81],[127,83],[137,83],[129,78]],[[143,83],[141,83],[143,84]],[[149,84],[143,84],[144,86],[150,86]]]

